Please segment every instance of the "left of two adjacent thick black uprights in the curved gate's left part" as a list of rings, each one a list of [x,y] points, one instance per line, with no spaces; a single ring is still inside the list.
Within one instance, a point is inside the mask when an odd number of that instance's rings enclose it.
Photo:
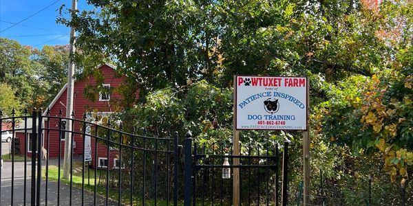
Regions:
[[[32,186],[31,186],[31,205],[34,206],[36,205],[36,122],[37,122],[37,113],[36,113],[36,108],[33,108],[32,111],[32,135],[30,135],[30,138],[32,139],[32,145],[30,146],[32,148]]]

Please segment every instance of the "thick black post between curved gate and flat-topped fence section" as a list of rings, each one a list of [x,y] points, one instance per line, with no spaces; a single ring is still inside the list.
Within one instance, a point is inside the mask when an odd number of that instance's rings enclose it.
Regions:
[[[188,132],[184,139],[184,206],[191,205],[192,186],[192,134]]]

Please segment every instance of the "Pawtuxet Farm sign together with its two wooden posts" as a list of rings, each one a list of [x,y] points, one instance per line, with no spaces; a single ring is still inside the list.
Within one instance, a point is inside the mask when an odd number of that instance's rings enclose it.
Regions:
[[[240,130],[303,130],[304,204],[309,195],[308,78],[234,76],[233,155]],[[240,158],[233,158],[240,165]],[[240,205],[240,168],[233,169],[233,205]]]

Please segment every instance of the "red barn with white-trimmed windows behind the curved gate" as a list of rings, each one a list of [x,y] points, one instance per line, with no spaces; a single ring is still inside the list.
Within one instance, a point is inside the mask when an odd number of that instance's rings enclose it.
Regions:
[[[118,77],[116,76],[116,67],[110,64],[104,64],[99,67],[101,73],[103,74],[104,81],[103,81],[103,87],[108,87],[110,88],[110,91],[114,91],[114,89],[120,87],[120,85],[125,83],[125,77]],[[84,78],[83,80],[78,80],[74,82],[74,119],[83,119],[83,114],[85,112],[89,111],[98,111],[99,114],[103,116],[108,116],[116,111],[118,111],[120,108],[114,108],[114,105],[111,104],[113,102],[116,102],[116,100],[120,100],[122,96],[119,93],[111,92],[111,93],[99,93],[98,100],[92,102],[88,98],[85,97],[84,90],[85,87],[88,87],[89,85],[96,86],[96,79],[94,76],[88,76],[87,78]],[[59,93],[56,95],[54,100],[50,103],[49,108],[50,108],[50,116],[58,116],[59,111],[63,111],[63,117],[65,116],[65,103],[66,103],[66,93],[67,93],[67,84],[59,91]],[[138,92],[136,92],[136,97],[138,98]],[[43,113],[43,115],[46,115]],[[50,120],[50,124],[47,122],[47,119],[43,119],[43,128],[47,128],[47,125],[52,128],[56,123],[56,119]],[[31,128],[31,119],[28,121],[28,128]],[[75,124],[74,125],[74,131],[79,131],[81,128],[81,125]],[[67,129],[66,129],[67,130]],[[28,152],[28,156],[31,155],[31,150],[28,148],[25,144],[26,141],[23,141],[23,139],[26,137],[29,137],[31,134],[31,131],[28,131],[28,135],[24,135],[24,131],[17,131],[16,137],[20,139],[21,143],[21,153],[24,155],[24,150],[23,148],[27,149],[26,151]],[[47,133],[47,132],[46,132]],[[57,130],[50,130],[49,134],[49,147],[47,150],[47,153],[50,158],[53,157],[59,157],[59,141],[61,142],[61,157],[63,157],[64,154],[64,148],[65,148],[65,135],[61,135],[59,137],[59,131]],[[42,140],[42,146],[43,148],[47,148],[47,134],[43,133],[43,140]],[[90,149],[92,153],[92,167],[96,168],[106,168],[107,164],[109,163],[109,168],[114,168],[116,163],[116,156],[118,155],[118,151],[115,149],[110,149],[109,150],[109,162],[107,161],[107,146],[98,143],[98,150],[97,150],[97,155],[98,155],[98,164],[96,165],[95,162],[95,139],[92,137],[90,138]],[[109,147],[110,148],[110,147]],[[81,155],[83,154],[83,135],[76,134],[74,135],[74,155]]]

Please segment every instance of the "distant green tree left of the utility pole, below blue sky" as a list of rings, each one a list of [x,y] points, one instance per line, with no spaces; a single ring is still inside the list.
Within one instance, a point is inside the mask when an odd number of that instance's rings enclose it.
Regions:
[[[44,108],[66,81],[65,46],[39,50],[0,38],[0,54],[0,81],[12,87],[25,108]]]

